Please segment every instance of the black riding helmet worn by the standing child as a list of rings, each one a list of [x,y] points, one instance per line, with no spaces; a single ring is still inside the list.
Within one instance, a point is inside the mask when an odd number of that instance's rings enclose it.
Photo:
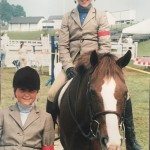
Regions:
[[[19,69],[13,78],[13,88],[16,91],[17,88],[39,91],[40,89],[40,77],[37,71],[29,66]]]

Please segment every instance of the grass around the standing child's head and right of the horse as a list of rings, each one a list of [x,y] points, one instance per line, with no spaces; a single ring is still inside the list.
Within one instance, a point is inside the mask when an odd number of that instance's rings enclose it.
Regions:
[[[12,78],[14,68],[1,69],[1,105],[7,107],[15,102],[12,90]],[[143,150],[149,150],[149,99],[150,99],[150,75],[124,70],[126,83],[128,85],[133,103],[134,122],[137,139]],[[41,75],[41,90],[39,93],[39,107],[45,109],[48,88],[45,83],[47,75]]]

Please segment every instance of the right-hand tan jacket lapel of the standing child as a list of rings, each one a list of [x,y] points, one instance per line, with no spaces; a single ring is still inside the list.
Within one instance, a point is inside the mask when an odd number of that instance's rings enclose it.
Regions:
[[[27,120],[23,126],[23,129],[25,130],[30,124],[32,124],[35,120],[39,118],[39,110],[34,107],[30,114],[27,117]]]

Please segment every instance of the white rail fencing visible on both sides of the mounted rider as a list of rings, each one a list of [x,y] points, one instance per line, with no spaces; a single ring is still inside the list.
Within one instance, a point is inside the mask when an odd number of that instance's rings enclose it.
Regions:
[[[20,43],[24,42],[24,47],[27,50],[28,65],[35,63],[39,66],[51,66],[51,40],[49,35],[44,37],[41,35],[40,40],[11,40],[7,35],[4,35],[1,40],[1,51],[6,54],[5,65],[6,67],[14,67],[12,62],[19,59]],[[112,42],[111,52],[118,57],[122,56],[127,50],[131,50],[132,59],[137,57],[138,43],[132,45],[128,43]],[[58,53],[55,53],[55,63],[58,62]],[[54,63],[54,64],[55,64]]]

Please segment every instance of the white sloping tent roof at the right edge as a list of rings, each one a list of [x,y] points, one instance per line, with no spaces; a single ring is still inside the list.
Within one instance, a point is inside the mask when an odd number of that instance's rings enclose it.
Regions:
[[[127,34],[150,34],[150,19],[139,22],[130,27],[124,28],[122,33]]]

